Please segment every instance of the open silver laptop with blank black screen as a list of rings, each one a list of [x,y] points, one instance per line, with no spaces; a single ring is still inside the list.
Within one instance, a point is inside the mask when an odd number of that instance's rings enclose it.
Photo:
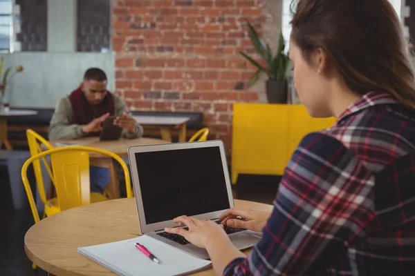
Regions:
[[[209,259],[179,235],[165,233],[165,227],[178,226],[175,217],[187,215],[214,220],[234,207],[228,165],[222,141],[202,141],[128,149],[142,235]],[[239,250],[257,244],[261,233],[225,226]]]

